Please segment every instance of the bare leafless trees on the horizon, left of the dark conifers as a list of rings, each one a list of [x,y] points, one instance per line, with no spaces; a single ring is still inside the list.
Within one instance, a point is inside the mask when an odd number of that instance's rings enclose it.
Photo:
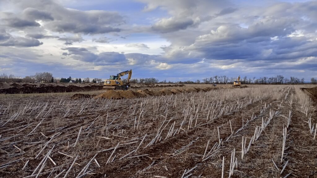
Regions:
[[[49,72],[37,72],[35,75],[25,76],[24,78],[7,75],[3,73],[0,75],[0,82],[55,82],[53,74]]]

